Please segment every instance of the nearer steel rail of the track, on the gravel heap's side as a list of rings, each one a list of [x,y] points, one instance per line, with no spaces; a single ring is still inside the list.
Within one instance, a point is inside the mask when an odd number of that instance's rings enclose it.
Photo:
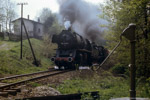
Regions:
[[[57,73],[52,73],[52,74],[48,74],[48,75],[43,75],[43,76],[39,76],[39,77],[19,81],[19,82],[16,82],[16,83],[7,84],[7,85],[4,85],[4,86],[0,86],[0,90],[10,89],[11,87],[15,87],[17,85],[25,84],[25,83],[30,82],[30,81],[39,80],[39,79],[46,78],[46,77],[49,77],[49,76],[55,76],[55,75],[58,75],[58,74],[69,72],[69,71],[72,71],[72,70],[59,71]]]

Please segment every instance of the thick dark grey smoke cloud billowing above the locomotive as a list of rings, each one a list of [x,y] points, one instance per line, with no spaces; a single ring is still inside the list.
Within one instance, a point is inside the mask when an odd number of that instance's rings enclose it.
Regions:
[[[58,0],[61,21],[70,21],[72,28],[80,35],[92,40],[103,40],[103,30],[99,27],[104,23],[98,15],[99,7],[83,0]]]

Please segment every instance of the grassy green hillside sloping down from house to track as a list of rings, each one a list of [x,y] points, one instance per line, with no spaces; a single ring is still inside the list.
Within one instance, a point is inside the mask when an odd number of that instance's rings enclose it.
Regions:
[[[23,59],[20,59],[20,42],[0,40],[0,74],[23,74],[41,70],[46,70],[51,67],[50,56],[52,56],[51,48],[47,42],[37,39],[31,39],[31,43],[40,66],[33,65],[33,57],[28,41],[23,40]],[[49,57],[49,58],[48,58]]]

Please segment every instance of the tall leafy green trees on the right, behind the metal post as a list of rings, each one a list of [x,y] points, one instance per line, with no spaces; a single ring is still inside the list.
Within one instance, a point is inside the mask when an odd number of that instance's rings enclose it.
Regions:
[[[146,78],[150,77],[150,32],[148,31],[150,26],[147,24],[146,9],[148,3],[149,0],[124,0],[123,2],[108,0],[103,6],[103,18],[109,22],[106,36],[108,47],[112,48],[117,44],[120,34],[128,24],[136,23],[137,76]],[[129,47],[129,41],[124,39],[117,49],[116,58],[124,66],[129,64]]]

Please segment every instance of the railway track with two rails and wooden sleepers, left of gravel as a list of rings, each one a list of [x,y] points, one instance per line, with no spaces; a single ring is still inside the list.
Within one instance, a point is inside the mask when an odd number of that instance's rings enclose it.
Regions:
[[[4,81],[4,80],[10,80],[10,79],[16,79],[16,78],[18,79],[18,78],[22,78],[22,77],[27,77],[27,76],[30,77],[32,75],[41,74],[41,75],[35,76],[33,78],[28,78],[25,80],[21,80],[21,81],[9,83],[9,84],[3,84],[2,86],[0,86],[0,96],[7,97],[8,94],[16,95],[17,92],[21,91],[21,89],[19,87],[21,85],[25,85],[29,82],[39,81],[41,79],[59,75],[59,74],[63,74],[63,73],[69,72],[69,71],[71,71],[71,70],[60,71],[60,70],[51,69],[49,71],[41,71],[41,72],[36,72],[36,73],[31,73],[31,74],[15,75],[15,76],[11,76],[11,77],[1,78],[0,81]]]

